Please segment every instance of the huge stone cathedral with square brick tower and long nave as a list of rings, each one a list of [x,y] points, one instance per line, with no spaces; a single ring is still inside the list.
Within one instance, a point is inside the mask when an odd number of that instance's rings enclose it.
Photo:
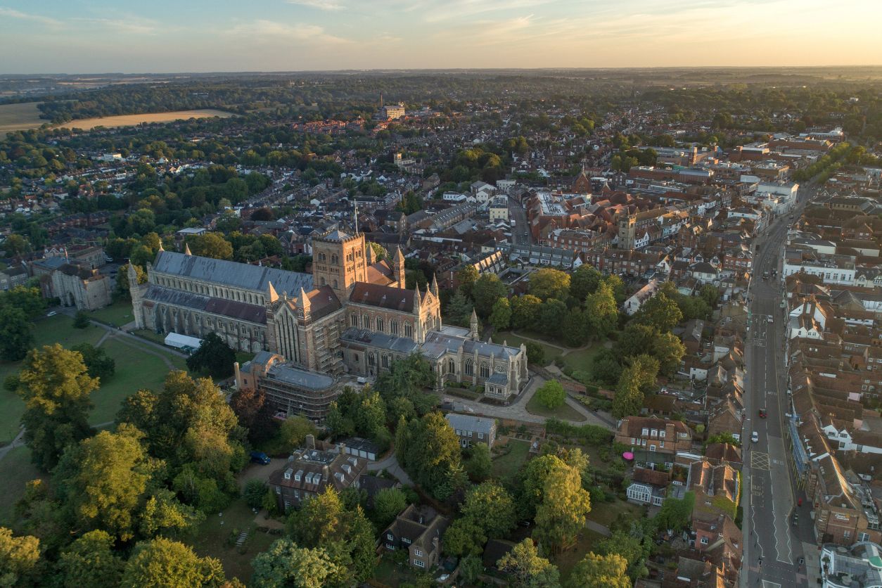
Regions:
[[[130,284],[133,273],[130,266]],[[391,262],[377,261],[361,233],[313,237],[311,274],[161,249],[147,264],[146,284],[131,287],[131,302],[138,329],[196,338],[214,332],[262,361],[272,355],[288,379],[376,376],[421,353],[439,390],[470,383],[505,400],[527,383],[523,347],[482,342],[475,316],[470,329],[441,324],[437,280],[408,290],[400,249]]]

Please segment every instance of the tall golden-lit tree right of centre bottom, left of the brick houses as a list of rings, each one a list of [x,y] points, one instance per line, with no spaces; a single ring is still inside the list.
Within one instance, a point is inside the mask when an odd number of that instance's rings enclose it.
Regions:
[[[552,552],[572,547],[591,511],[591,498],[582,488],[579,470],[558,466],[545,480],[542,504],[536,508],[534,536]]]

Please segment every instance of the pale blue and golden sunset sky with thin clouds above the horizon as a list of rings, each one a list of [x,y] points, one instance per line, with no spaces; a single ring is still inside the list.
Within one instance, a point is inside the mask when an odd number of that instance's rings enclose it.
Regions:
[[[0,73],[882,64],[882,0],[0,0]]]

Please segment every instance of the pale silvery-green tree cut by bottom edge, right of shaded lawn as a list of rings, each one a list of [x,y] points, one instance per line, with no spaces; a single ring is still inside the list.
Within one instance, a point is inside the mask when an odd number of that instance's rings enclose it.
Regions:
[[[325,549],[297,547],[288,538],[275,540],[251,567],[251,584],[267,588],[323,588],[345,575]]]

